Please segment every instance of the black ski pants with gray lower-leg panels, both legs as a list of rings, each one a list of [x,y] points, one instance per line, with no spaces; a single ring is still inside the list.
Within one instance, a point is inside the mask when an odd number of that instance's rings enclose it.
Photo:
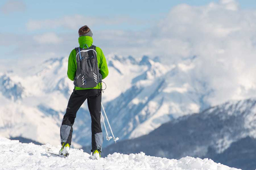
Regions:
[[[66,114],[60,127],[61,143],[71,144],[73,124],[76,112],[87,99],[92,119],[92,151],[102,149],[103,134],[100,125],[101,116],[101,89],[74,90],[68,100]]]

